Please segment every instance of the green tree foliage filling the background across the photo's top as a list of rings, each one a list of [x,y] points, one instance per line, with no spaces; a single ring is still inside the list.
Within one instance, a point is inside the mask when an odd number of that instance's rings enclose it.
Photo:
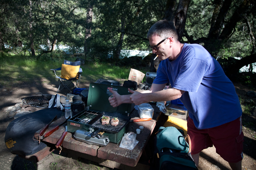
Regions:
[[[201,39],[200,44],[214,58],[243,58],[250,55],[255,41],[249,36],[245,13],[241,14],[243,19],[236,23],[227,40],[202,40],[208,37],[210,27],[214,23],[213,11],[218,2],[220,1],[190,2],[185,27],[187,38]],[[240,0],[232,1],[220,32],[241,3]],[[93,9],[92,23],[87,22],[87,10],[90,8]],[[255,35],[255,4],[252,3],[248,8],[246,17],[252,34]],[[86,57],[89,61],[113,62],[121,66],[124,65],[122,61],[113,60],[116,51],[149,50],[147,31],[151,25],[162,19],[166,9],[167,0],[3,0],[0,4],[0,47],[2,48],[4,43],[12,53],[26,55],[32,43],[36,53],[42,46],[50,50],[54,43],[61,43],[68,45],[68,52],[74,54],[82,52],[87,42],[89,50]],[[89,27],[92,32],[86,37]],[[18,47],[18,42],[22,43],[23,47]],[[41,60],[60,61],[66,58],[61,52],[39,53]],[[122,57],[125,56],[120,58]]]

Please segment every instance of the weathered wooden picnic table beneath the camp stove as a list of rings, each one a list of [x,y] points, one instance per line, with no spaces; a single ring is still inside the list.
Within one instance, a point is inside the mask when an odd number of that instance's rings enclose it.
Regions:
[[[128,127],[128,132],[132,131],[136,133],[136,129],[139,126],[143,126],[144,130],[137,134],[136,140],[139,141],[133,150],[128,150],[124,148],[120,148],[120,142],[118,144],[109,142],[106,147],[100,147],[96,145],[88,145],[85,142],[78,141],[74,138],[73,133],[67,133],[63,143],[62,143],[62,151],[68,152],[70,154],[76,155],[78,157],[86,158],[87,160],[98,162],[101,165],[104,165],[109,168],[118,168],[118,169],[149,169],[148,165],[138,164],[141,155],[146,147],[146,144],[156,126],[156,122],[160,116],[160,110],[157,108],[155,104],[151,104],[154,108],[153,119],[150,121],[139,121],[139,122],[130,122]],[[132,105],[132,109],[134,108],[134,104]],[[133,110],[130,114],[131,120],[139,119],[139,114],[137,110]],[[47,131],[51,130],[57,125],[60,125],[65,121],[65,117],[62,116],[58,120],[54,121],[50,124]],[[48,144],[56,144],[62,133],[65,131],[65,126],[61,126],[59,130],[55,131],[53,134],[43,139],[42,141]],[[37,131],[35,135],[39,134],[41,130]],[[46,131],[46,132],[47,132]],[[60,150],[60,149],[58,149]],[[40,152],[34,154],[34,157],[37,157],[37,161],[40,161],[43,157],[48,155],[52,150],[49,148],[45,148]],[[29,159],[29,156],[26,156]],[[132,168],[134,167],[134,168]]]

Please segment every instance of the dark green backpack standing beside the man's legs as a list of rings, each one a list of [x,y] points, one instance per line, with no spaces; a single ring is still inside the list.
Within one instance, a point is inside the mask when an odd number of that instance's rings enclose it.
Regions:
[[[190,138],[186,142],[182,130],[160,127],[154,138],[154,157],[150,161],[159,170],[198,170],[190,154]],[[191,145],[191,144],[190,144]]]

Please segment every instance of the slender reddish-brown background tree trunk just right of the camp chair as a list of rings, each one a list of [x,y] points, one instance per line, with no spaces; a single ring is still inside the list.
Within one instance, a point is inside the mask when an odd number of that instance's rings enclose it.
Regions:
[[[93,6],[92,4],[90,4],[86,13],[85,43],[84,43],[84,49],[83,49],[85,53],[85,60],[86,60],[87,53],[89,51],[88,38],[92,36],[92,18],[93,18]]]

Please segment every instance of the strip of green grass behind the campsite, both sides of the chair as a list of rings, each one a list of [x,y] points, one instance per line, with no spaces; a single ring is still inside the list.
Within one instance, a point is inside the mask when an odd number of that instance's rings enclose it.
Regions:
[[[1,53],[0,53],[1,54]],[[68,58],[69,61],[74,61],[75,58]],[[35,79],[42,83],[52,83],[56,81],[55,74],[50,70],[61,67],[64,59],[45,60],[29,55],[11,55],[1,54],[0,57],[0,85],[7,86],[9,84],[23,84],[34,82]],[[124,81],[128,80],[130,68],[137,69],[144,74],[149,71],[148,67],[124,67],[114,66],[113,64],[103,63],[88,63],[81,65],[83,70],[81,82],[95,82],[97,79],[103,78],[106,80]],[[56,73],[58,76],[61,72]],[[11,75],[11,76],[10,76]]]

